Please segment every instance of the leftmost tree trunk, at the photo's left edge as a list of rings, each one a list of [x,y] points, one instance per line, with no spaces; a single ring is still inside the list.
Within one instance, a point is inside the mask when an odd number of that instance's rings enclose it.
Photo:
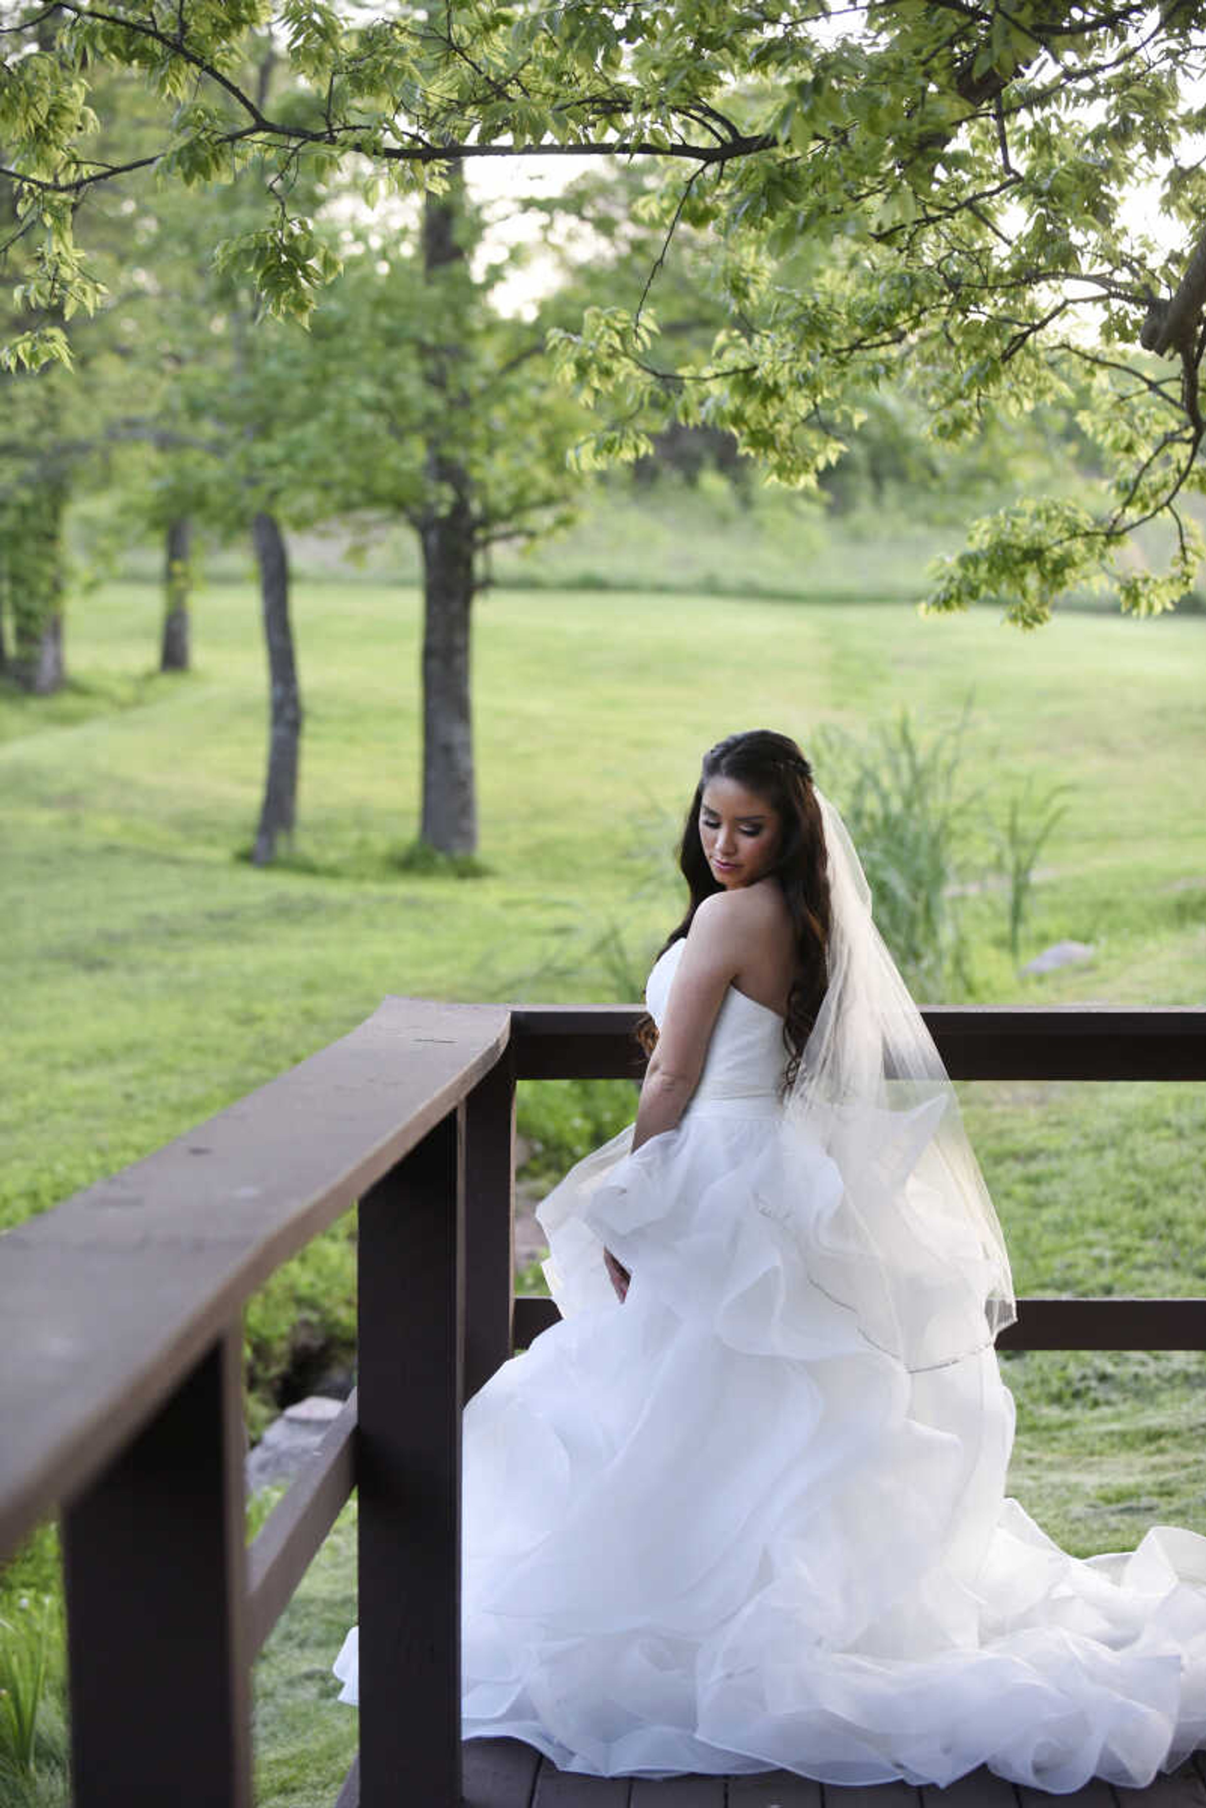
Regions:
[[[63,508],[67,486],[31,488],[7,512],[5,568],[13,620],[11,673],[24,691],[61,689],[63,662]]]

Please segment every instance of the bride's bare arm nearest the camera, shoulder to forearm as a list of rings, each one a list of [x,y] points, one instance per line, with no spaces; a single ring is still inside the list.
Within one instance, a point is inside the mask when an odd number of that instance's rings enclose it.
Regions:
[[[718,891],[694,913],[640,1088],[633,1148],[673,1130],[700,1083],[716,1016],[741,965],[743,904],[740,893]]]

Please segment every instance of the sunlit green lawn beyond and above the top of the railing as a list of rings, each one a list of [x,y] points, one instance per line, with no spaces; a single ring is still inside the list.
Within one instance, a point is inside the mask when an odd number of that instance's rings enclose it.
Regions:
[[[367,1016],[385,993],[615,996],[678,909],[667,848],[700,750],[767,723],[805,745],[975,692],[967,783],[1072,785],[1027,949],[1096,946],[1020,978],[1003,902],[969,900],[971,994],[1202,996],[1201,618],[1070,617],[1022,636],[985,611],[512,593],[477,615],[485,879],[418,879],[410,591],[297,586],[306,696],[293,870],[235,855],[257,814],[255,597],[203,593],[197,671],[148,676],[157,597],[112,586],[71,622],[78,687],[0,694],[5,1085],[0,1224],[61,1199]],[[824,781],[824,772],[821,772]]]

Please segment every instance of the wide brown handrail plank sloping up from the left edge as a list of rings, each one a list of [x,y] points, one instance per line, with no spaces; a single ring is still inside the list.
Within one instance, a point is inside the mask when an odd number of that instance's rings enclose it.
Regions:
[[[387,998],[300,1067],[0,1237],[0,1557],[470,1092],[508,1018]]]

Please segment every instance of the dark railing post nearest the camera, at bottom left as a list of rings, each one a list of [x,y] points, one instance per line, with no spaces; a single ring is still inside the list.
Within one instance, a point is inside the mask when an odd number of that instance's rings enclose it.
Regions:
[[[72,1801],[250,1808],[242,1327],[63,1511]]]

